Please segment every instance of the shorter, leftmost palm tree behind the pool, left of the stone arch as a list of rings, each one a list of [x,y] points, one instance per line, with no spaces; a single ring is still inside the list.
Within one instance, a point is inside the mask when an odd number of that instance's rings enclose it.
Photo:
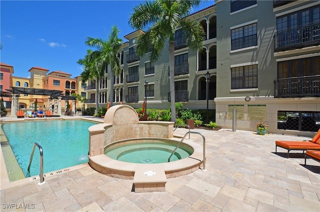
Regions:
[[[100,52],[87,49],[84,58],[77,61],[78,64],[84,65],[81,72],[82,82],[86,82],[88,79],[95,80],[95,110],[99,109],[99,78],[103,76],[103,69],[99,63]]]

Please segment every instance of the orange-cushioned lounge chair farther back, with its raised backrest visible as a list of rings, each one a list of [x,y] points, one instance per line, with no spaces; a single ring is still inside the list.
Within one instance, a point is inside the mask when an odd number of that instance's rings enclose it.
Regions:
[[[312,137],[311,140],[303,140],[303,141],[276,140],[275,141],[275,152],[276,152],[277,146],[288,150],[287,158],[289,157],[290,150],[302,150],[303,153],[307,149],[320,150],[320,129]]]

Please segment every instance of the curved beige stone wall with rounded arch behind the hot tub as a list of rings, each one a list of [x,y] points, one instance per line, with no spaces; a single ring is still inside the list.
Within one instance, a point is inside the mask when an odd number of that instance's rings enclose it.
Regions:
[[[104,146],[123,139],[138,137],[173,137],[173,124],[169,121],[139,121],[136,111],[129,105],[110,107],[104,123],[89,127],[89,156],[103,154]]]

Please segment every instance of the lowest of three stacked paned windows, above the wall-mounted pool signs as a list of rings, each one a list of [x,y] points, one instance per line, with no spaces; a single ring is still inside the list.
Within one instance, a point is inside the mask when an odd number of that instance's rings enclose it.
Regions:
[[[256,88],[257,64],[231,68],[231,89]]]

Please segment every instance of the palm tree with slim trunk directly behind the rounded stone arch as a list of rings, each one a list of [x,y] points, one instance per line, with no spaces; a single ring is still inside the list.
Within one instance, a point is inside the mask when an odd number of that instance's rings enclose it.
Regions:
[[[119,29],[116,25],[113,25],[109,34],[108,40],[104,41],[101,38],[88,37],[85,43],[88,46],[96,47],[99,51],[99,58],[97,60],[98,65],[103,70],[107,64],[111,67],[110,72],[110,106],[113,101],[113,77],[119,75],[120,72],[120,58],[117,56],[122,46],[122,39],[118,38]]]

